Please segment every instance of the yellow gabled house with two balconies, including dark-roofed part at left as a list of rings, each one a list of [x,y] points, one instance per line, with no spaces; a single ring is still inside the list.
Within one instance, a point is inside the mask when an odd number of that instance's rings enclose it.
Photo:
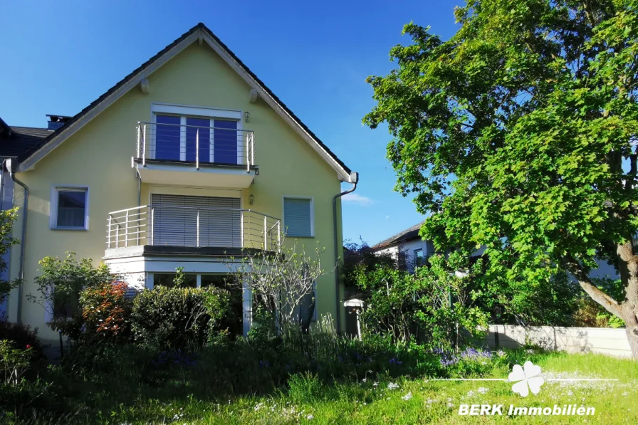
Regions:
[[[308,251],[326,248],[317,310],[342,316],[331,272],[341,256],[338,196],[358,175],[204,24],[77,115],[50,118],[48,129],[2,122],[2,206],[21,208],[14,237],[26,221],[11,250],[9,276],[24,280],[9,320],[56,338],[45,325],[54,306],[26,300],[45,256],[103,261],[137,288],[170,282],[183,267],[200,286],[223,278],[228,261],[270,248],[279,231]],[[246,290],[244,332],[251,306]]]

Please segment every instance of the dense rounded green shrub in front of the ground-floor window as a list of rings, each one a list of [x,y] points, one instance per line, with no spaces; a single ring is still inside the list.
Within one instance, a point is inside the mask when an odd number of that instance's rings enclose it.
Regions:
[[[135,341],[162,349],[196,349],[216,337],[229,293],[215,287],[143,290],[133,300]]]

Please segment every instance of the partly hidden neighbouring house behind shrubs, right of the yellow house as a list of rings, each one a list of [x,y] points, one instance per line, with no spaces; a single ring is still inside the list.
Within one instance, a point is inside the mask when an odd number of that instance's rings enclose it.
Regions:
[[[423,223],[422,221],[404,231],[400,231],[398,234],[372,246],[372,249],[379,254],[391,255],[399,264],[399,268],[413,271],[414,266],[419,265],[434,254],[432,241],[424,241],[419,236],[419,230]]]

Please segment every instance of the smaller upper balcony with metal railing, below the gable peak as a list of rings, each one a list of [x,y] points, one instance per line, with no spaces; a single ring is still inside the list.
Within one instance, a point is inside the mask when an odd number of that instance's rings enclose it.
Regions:
[[[137,125],[132,167],[137,168],[142,182],[233,188],[251,185],[258,173],[252,130],[237,128],[236,121],[161,117],[161,121]]]

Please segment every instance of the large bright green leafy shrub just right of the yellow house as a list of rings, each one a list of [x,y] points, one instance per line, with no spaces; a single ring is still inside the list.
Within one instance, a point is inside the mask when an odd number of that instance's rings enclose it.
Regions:
[[[471,304],[470,278],[456,277],[454,271],[459,268],[460,256],[451,254],[448,261],[432,256],[429,265],[414,274],[387,267],[360,271],[357,281],[367,291],[360,315],[363,331],[432,348],[458,347],[479,337],[479,326],[487,324],[487,315]],[[472,271],[478,268],[480,264]]]

